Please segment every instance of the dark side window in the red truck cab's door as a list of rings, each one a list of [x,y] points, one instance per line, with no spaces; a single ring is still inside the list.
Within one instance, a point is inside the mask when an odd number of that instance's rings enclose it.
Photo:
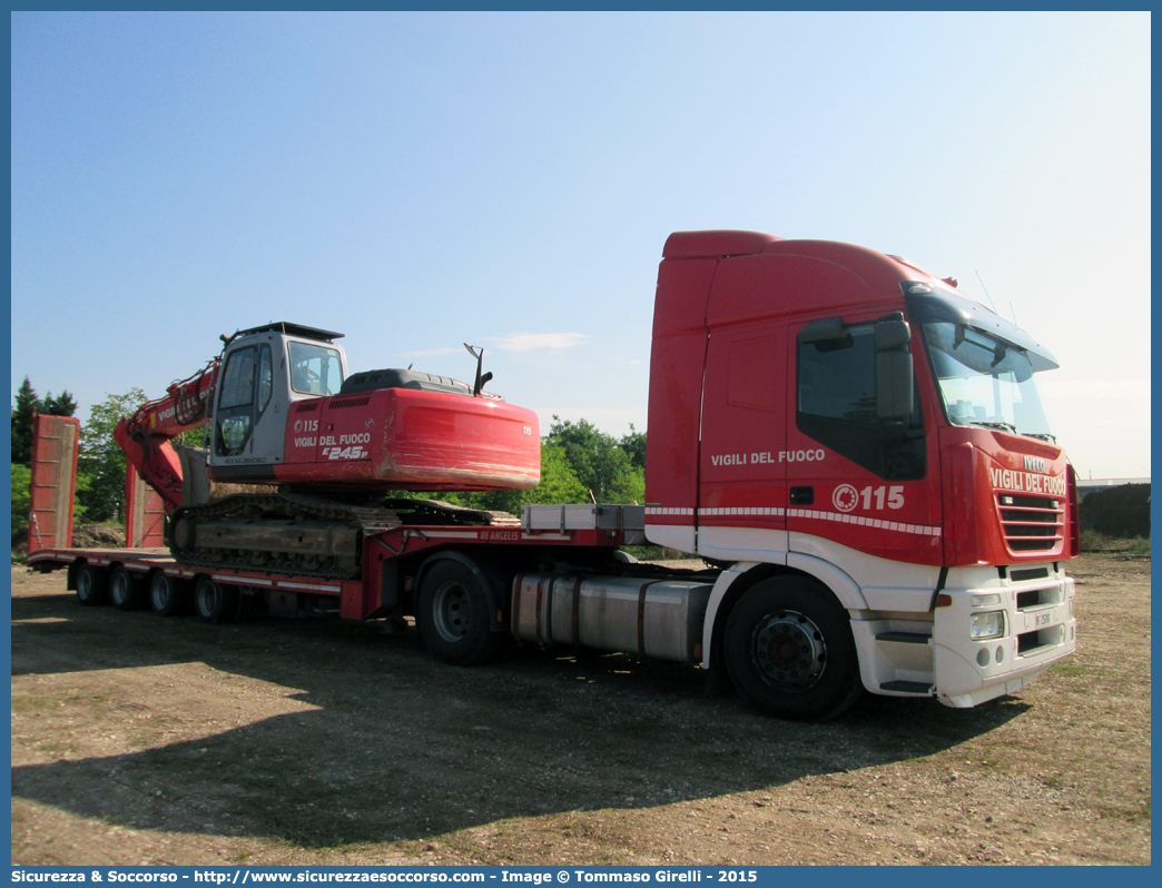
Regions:
[[[880,478],[924,478],[927,459],[919,393],[908,423],[876,420],[876,351],[871,324],[797,343],[799,431]]]

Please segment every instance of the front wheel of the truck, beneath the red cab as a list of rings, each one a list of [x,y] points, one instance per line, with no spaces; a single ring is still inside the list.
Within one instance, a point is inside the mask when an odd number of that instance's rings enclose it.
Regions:
[[[802,577],[763,580],[745,593],[723,644],[734,687],[775,718],[834,718],[863,687],[847,611]]]

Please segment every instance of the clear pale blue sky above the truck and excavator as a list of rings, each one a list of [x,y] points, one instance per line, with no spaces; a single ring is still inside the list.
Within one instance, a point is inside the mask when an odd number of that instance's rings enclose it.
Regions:
[[[1149,474],[1148,14],[12,24],[13,392],[86,417],[286,320],[621,435],[666,236],[743,228],[983,279],[1082,477]]]

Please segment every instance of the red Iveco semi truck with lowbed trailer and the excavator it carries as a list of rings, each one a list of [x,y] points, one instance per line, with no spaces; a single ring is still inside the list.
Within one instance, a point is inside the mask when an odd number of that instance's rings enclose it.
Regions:
[[[119,429],[166,500],[170,552],[44,547],[29,564],[67,567],[89,604],[414,616],[465,665],[509,635],[696,663],[784,718],[832,717],[862,690],[971,707],[1075,650],[1076,480],[1033,379],[1056,361],[905,259],[672,235],[644,506],[525,506],[518,521],[383,500],[533,486],[536,415],[486,394],[479,363],[472,386],[349,375],[338,336],[236,334]],[[203,422],[208,452],[167,450]],[[278,492],[206,501],[199,477]],[[711,566],[619,551],[641,543]]]

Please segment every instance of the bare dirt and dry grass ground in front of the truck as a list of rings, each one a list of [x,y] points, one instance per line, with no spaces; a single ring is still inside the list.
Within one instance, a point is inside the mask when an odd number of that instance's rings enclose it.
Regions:
[[[1149,864],[1149,571],[971,710],[763,718],[693,667],[444,666],[374,624],[83,608],[13,568],[13,861]]]

